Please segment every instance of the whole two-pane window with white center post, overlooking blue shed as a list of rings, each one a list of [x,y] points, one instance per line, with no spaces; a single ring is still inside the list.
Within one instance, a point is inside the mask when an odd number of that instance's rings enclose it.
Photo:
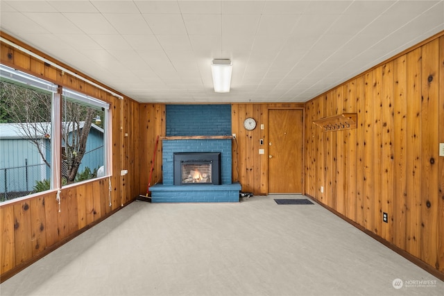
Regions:
[[[60,96],[58,85],[3,64],[0,73],[0,202],[107,174],[108,103]]]

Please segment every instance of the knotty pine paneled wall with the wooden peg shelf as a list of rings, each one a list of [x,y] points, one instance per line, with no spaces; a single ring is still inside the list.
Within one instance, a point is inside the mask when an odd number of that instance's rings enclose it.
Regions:
[[[438,143],[444,142],[443,35],[305,105],[306,193],[439,272],[444,272],[444,157],[438,156]],[[324,132],[312,123],[343,112],[357,113],[356,129]]]

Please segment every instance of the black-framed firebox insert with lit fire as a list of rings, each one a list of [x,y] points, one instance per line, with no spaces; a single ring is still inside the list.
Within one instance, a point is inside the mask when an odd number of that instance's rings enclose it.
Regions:
[[[221,184],[221,153],[173,153],[174,185]]]

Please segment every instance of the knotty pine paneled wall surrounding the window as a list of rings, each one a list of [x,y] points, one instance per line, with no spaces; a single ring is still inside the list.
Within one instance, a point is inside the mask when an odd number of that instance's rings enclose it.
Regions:
[[[42,55],[26,44],[1,33],[2,37]],[[56,192],[0,204],[0,272],[4,281],[35,259],[68,241],[82,230],[128,204],[139,194],[139,103],[119,100],[50,64],[37,60],[1,42],[0,62],[63,87],[110,103],[112,112],[112,175],[64,188],[60,205]],[[56,62],[54,60],[54,62]],[[70,69],[66,65],[62,65]],[[74,69],[70,69],[74,71]],[[128,174],[121,176],[121,170]],[[109,190],[111,186],[111,191]]]

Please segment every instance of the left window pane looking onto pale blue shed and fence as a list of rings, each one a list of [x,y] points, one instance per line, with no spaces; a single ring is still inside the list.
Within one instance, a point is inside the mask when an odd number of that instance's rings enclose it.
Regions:
[[[50,189],[57,85],[1,65],[0,202]]]

